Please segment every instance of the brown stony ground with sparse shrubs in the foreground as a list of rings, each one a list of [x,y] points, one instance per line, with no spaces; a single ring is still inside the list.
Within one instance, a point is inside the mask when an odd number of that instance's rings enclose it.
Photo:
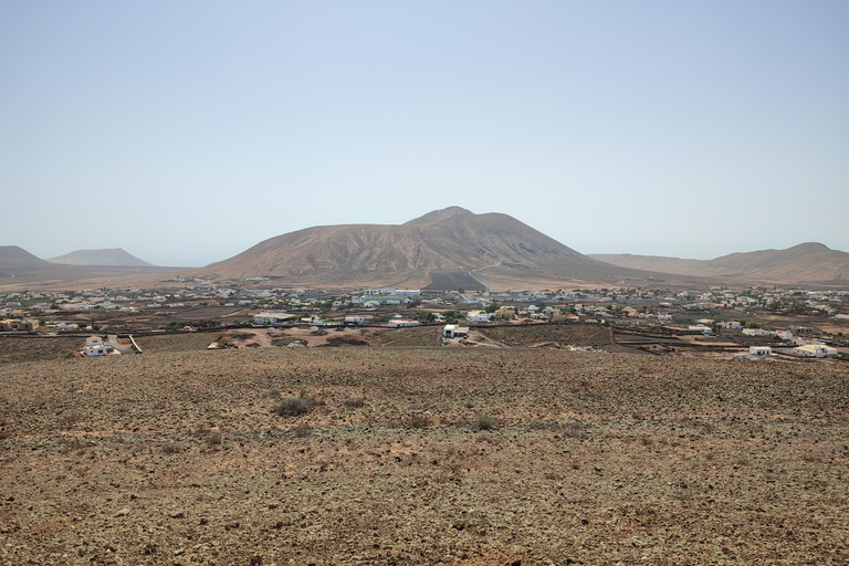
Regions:
[[[849,560],[843,364],[270,347],[1,367],[0,564]]]

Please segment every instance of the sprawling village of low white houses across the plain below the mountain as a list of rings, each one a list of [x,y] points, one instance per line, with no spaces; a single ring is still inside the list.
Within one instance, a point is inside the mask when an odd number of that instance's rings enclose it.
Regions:
[[[614,342],[652,354],[684,348],[732,358],[849,357],[849,291],[842,290],[381,287],[352,293],[258,283],[195,279],[155,290],[2,294],[0,335],[80,336],[80,355],[101,356],[139,353],[133,335],[150,333],[429,326],[437,327],[442,345],[469,346],[481,342],[470,335],[493,326],[595,324],[611,328]]]

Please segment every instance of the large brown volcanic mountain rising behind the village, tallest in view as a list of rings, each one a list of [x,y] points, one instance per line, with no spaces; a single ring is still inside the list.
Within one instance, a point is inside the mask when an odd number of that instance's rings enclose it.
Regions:
[[[196,273],[279,277],[296,286],[434,290],[551,286],[569,280],[614,284],[651,275],[583,255],[510,216],[474,214],[459,207],[400,226],[324,226],[290,232]]]

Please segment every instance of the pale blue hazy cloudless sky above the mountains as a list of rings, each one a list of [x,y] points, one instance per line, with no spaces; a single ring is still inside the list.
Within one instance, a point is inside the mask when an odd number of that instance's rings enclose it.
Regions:
[[[202,265],[458,205],[849,251],[849,2],[0,0],[0,245]]]

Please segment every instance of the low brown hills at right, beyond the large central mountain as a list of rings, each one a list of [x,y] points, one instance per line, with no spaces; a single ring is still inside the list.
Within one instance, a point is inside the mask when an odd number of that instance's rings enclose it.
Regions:
[[[713,260],[614,253],[596,253],[590,256],[622,268],[724,281],[773,284],[849,281],[849,253],[831,250],[817,242],[801,243],[786,250],[732,253]]]

